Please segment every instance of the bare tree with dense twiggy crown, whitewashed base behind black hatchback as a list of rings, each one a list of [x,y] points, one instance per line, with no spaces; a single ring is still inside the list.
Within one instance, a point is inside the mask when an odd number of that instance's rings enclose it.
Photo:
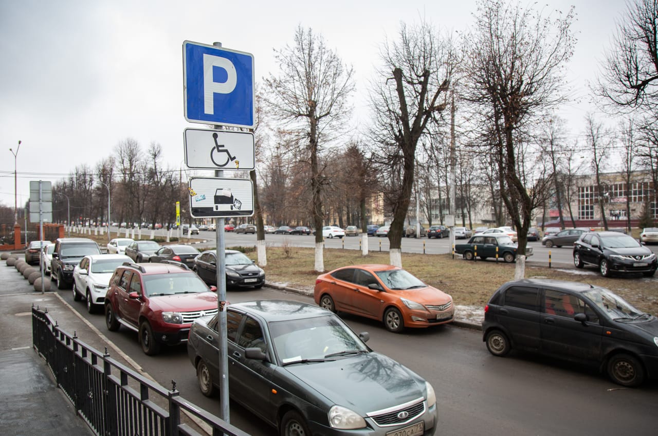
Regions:
[[[573,9],[555,20],[542,11],[503,1],[478,1],[474,31],[468,35],[468,99],[493,128],[490,142],[499,165],[499,188],[525,254],[532,190],[524,184],[517,150],[519,133],[533,117],[565,100],[563,74],[574,46]],[[521,161],[519,161],[519,157]],[[516,276],[524,262],[517,262]]]

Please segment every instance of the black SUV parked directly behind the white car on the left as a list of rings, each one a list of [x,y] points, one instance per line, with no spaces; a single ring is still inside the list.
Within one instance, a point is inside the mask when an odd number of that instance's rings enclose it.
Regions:
[[[101,254],[95,241],[89,238],[58,238],[55,241],[50,279],[57,280],[58,289],[73,284],[73,269],[88,254]]]

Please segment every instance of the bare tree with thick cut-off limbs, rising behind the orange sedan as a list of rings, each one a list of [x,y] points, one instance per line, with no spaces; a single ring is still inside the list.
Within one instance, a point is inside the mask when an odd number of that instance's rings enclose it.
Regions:
[[[402,231],[414,184],[418,140],[447,106],[456,56],[452,41],[426,22],[402,23],[398,38],[382,45],[384,65],[370,90],[374,111],[370,136],[383,150],[380,164],[389,188],[384,195],[393,214],[388,232],[390,263],[401,266]],[[401,178],[395,173],[401,173]]]

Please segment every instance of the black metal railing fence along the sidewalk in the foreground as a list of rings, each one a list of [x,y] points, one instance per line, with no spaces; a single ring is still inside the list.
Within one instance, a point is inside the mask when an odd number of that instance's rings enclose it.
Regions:
[[[249,436],[62,331],[47,310],[32,307],[32,343],[53,371],[76,413],[97,435],[201,436],[182,412],[205,423],[213,436]],[[182,420],[182,418],[184,418]],[[205,433],[204,433],[205,434]]]

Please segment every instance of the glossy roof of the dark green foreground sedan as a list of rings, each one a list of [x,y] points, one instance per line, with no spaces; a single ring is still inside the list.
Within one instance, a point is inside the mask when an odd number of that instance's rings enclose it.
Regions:
[[[250,313],[266,322],[291,321],[332,315],[328,310],[315,306],[315,304],[292,300],[254,300],[230,304],[228,307],[239,312]]]

